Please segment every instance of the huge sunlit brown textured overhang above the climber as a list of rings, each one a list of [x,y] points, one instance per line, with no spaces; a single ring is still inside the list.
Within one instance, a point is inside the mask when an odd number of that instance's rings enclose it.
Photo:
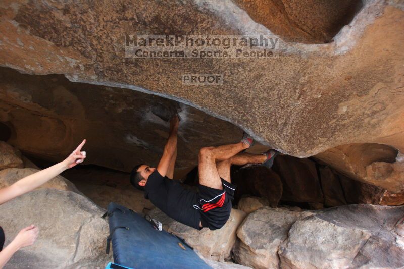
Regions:
[[[268,34],[270,29],[230,0],[8,1],[1,9],[0,65],[182,100],[294,156],[353,142],[402,151],[400,7],[394,1],[368,1],[333,42],[283,44],[281,56],[271,61],[125,60],[124,34]],[[188,86],[179,79],[184,72],[219,73],[226,79],[221,86]]]

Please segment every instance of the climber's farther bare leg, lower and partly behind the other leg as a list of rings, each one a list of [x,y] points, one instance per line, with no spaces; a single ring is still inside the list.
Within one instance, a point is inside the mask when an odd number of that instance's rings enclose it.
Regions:
[[[266,158],[267,157],[263,154],[238,153],[229,159],[217,162],[216,169],[222,179],[231,182],[231,165],[243,166],[247,164],[261,164],[265,161]]]

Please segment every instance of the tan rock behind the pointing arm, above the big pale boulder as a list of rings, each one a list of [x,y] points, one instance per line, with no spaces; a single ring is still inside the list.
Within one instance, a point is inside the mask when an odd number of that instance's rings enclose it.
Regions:
[[[10,186],[20,179],[38,172],[38,169],[34,168],[8,168],[0,171],[0,188]],[[69,180],[62,176],[56,176],[55,178],[49,180],[45,184],[39,186],[37,189],[52,188],[63,191],[73,191],[76,193],[81,192],[76,188],[76,186]]]

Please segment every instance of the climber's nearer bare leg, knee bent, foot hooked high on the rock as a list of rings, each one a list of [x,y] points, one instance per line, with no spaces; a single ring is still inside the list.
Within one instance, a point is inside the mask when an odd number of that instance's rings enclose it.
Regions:
[[[238,142],[231,145],[201,148],[198,155],[199,184],[223,190],[216,162],[227,160],[248,147],[248,144]]]

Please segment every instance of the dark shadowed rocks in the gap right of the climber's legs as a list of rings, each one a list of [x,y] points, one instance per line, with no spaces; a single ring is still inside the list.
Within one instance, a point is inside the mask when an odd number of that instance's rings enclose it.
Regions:
[[[358,160],[353,158],[352,166],[364,162],[367,156],[366,153],[357,155]],[[396,175],[398,177],[395,179],[399,180],[401,174]],[[277,156],[271,169],[251,166],[239,169],[232,175],[232,180],[237,185],[236,202],[247,194],[267,198],[272,207],[284,202],[310,209],[358,203],[404,204],[402,193],[391,193],[385,188],[354,179],[319,159],[300,159],[285,155]],[[376,184],[387,186],[385,183]]]

